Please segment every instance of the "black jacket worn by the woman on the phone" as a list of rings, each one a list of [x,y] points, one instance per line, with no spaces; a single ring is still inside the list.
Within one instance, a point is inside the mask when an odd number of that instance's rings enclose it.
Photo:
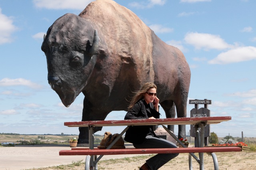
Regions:
[[[154,109],[153,103],[147,104],[145,100],[140,100],[126,113],[124,119],[148,119],[149,117],[159,119],[160,113]],[[153,131],[153,126],[130,126],[126,131],[124,140],[141,144],[147,135],[157,137]]]

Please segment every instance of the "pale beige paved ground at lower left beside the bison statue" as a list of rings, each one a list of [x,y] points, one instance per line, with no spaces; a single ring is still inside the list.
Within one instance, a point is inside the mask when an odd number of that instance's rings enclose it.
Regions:
[[[132,147],[126,145],[126,148]],[[86,156],[59,156],[60,150],[70,150],[69,145],[16,145],[0,147],[0,170],[26,170],[84,160]],[[137,155],[105,155],[101,160],[132,157]]]

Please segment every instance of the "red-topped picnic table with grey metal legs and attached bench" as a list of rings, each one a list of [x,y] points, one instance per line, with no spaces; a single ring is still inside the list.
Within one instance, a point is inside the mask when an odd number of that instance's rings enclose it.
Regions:
[[[79,121],[65,122],[68,127],[89,128],[89,148],[72,148],[72,150],[61,150],[60,155],[87,155],[85,170],[98,170],[98,161],[104,155],[110,154],[158,154],[158,153],[189,153],[189,168],[192,170],[192,157],[199,163],[200,170],[204,169],[204,153],[212,156],[214,169],[218,170],[218,160],[214,152],[238,152],[239,147],[204,147],[204,127],[208,124],[218,124],[229,121],[231,117],[184,117],[167,119],[135,119],[135,120],[110,120],[110,121]],[[144,148],[144,149],[110,149],[124,135],[130,126],[162,125],[162,127],[180,144],[183,148]],[[186,148],[186,146],[164,125],[194,125],[197,137],[197,146]],[[94,127],[104,126],[127,126],[119,136],[106,148],[94,148]],[[199,153],[199,158],[194,154]],[[97,155],[100,155],[97,158]]]

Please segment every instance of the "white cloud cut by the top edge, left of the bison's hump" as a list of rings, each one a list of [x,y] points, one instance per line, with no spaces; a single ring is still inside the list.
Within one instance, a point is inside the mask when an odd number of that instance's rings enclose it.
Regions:
[[[38,8],[84,10],[92,0],[33,0]]]

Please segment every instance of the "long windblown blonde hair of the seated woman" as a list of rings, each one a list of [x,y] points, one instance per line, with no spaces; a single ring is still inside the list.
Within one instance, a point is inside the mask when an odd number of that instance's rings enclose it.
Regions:
[[[140,90],[136,91],[134,97],[132,97],[132,100],[130,102],[128,110],[132,109],[132,107],[134,107],[134,105],[137,103],[137,101],[144,98],[145,93],[151,88],[156,89],[156,85],[154,83],[150,83],[150,82],[142,85],[142,87],[140,87]]]

